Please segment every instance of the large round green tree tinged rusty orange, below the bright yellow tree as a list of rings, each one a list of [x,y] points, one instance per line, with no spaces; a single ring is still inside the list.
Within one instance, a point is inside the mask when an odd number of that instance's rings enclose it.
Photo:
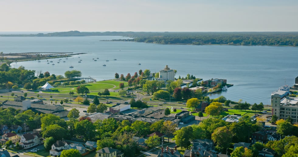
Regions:
[[[217,149],[221,151],[229,147],[232,137],[232,132],[226,126],[215,129],[211,135],[211,139],[217,144]]]

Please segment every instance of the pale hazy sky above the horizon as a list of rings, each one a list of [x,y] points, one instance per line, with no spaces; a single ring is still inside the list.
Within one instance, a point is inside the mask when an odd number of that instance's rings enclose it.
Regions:
[[[0,31],[298,31],[298,0],[1,0]]]

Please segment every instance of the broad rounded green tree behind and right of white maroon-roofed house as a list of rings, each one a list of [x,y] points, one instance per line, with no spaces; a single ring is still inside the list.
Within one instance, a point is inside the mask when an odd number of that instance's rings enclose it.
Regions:
[[[54,125],[49,125],[43,131],[43,138],[47,137],[53,137],[56,140],[62,140],[66,136],[66,130],[62,128],[61,126],[54,124]]]

